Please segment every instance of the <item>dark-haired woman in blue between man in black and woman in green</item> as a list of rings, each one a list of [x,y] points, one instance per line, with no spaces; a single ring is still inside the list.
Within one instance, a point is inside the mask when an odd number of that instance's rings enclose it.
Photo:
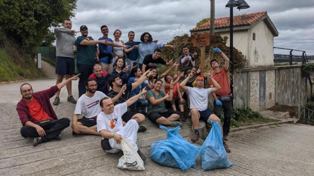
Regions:
[[[135,66],[131,70],[130,78],[129,78],[129,84],[134,83],[142,76],[142,71],[138,66]],[[146,80],[145,80],[146,82]],[[142,88],[146,88],[146,84],[142,83],[137,88],[131,91],[130,96],[134,96],[139,94],[139,92],[142,90]],[[133,104],[133,110],[137,111],[138,108],[143,108],[148,106],[148,100],[146,100],[146,95],[143,97],[140,97],[134,104]]]

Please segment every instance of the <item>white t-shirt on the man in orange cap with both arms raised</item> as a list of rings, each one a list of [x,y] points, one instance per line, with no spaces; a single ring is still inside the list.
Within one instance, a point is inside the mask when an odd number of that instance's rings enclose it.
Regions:
[[[190,99],[190,110],[193,108],[200,111],[207,110],[210,88],[187,88],[187,94]]]

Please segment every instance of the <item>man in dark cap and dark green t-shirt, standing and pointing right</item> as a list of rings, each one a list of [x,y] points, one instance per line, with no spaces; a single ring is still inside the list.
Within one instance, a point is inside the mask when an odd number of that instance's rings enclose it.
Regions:
[[[79,36],[75,42],[78,48],[77,54],[77,68],[78,72],[81,74],[78,81],[78,96],[80,97],[85,93],[85,82],[87,81],[89,75],[93,73],[93,66],[95,64],[95,59],[98,58],[97,45],[96,44],[106,44],[115,47],[127,47],[126,45],[115,44],[108,42],[106,40],[95,41],[88,36],[88,28],[86,25],[81,25],[79,28],[82,36]]]

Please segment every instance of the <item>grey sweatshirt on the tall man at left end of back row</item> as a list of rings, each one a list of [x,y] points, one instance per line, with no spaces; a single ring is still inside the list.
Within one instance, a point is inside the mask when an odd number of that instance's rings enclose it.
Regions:
[[[56,56],[74,58],[75,36],[65,27],[54,28],[56,38]]]

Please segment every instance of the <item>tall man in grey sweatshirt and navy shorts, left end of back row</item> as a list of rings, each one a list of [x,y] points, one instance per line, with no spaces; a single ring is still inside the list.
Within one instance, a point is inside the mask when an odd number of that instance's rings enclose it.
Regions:
[[[72,22],[67,19],[63,22],[63,27],[55,27],[54,35],[56,38],[56,59],[55,59],[55,74],[57,75],[56,84],[62,82],[65,75],[65,79],[71,78],[74,75],[74,43],[76,31],[71,30]],[[68,102],[77,103],[72,96],[72,82],[67,84]],[[60,90],[55,94],[53,105],[60,103],[59,98]]]

